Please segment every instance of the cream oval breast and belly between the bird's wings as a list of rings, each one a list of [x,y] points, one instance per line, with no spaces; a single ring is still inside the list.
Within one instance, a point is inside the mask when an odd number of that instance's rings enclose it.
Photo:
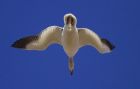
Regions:
[[[62,33],[62,45],[68,56],[74,56],[79,47],[77,30],[64,30]]]

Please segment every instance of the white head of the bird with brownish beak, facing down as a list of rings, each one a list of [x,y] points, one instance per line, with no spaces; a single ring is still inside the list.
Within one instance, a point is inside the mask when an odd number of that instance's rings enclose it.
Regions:
[[[73,14],[69,13],[64,16],[64,23],[65,25],[76,26],[77,19]]]

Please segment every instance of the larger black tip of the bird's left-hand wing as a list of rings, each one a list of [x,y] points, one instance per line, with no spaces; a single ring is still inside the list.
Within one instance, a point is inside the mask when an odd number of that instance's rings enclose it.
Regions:
[[[27,44],[38,39],[38,36],[28,36],[15,41],[11,47],[13,48],[26,48]]]

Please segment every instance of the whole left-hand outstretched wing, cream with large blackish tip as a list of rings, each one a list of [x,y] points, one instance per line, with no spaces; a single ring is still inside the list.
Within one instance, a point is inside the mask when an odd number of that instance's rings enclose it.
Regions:
[[[53,43],[61,44],[61,27],[50,26],[44,29],[40,35],[27,36],[12,44],[14,48],[26,50],[44,50]]]

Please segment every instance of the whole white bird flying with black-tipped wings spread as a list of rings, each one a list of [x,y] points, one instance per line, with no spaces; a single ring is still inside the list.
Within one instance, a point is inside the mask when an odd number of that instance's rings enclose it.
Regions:
[[[73,74],[74,55],[79,48],[90,45],[100,53],[110,53],[115,46],[107,39],[100,38],[95,32],[88,28],[77,28],[76,17],[69,13],[64,15],[64,27],[50,26],[39,35],[21,38],[12,44],[14,48],[25,50],[45,50],[51,44],[60,44],[69,58],[69,71]]]

